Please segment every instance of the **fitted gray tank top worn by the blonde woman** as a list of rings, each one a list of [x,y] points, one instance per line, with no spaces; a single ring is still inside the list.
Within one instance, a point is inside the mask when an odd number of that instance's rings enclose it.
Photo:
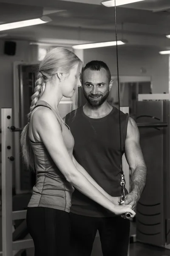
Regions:
[[[68,125],[47,102],[38,101],[37,106],[45,106],[54,112],[62,131],[65,146],[72,158],[74,138]],[[35,157],[36,185],[28,207],[48,207],[70,212],[73,186],[65,179],[64,175],[55,165],[43,143],[34,143],[30,140]],[[56,142],[57,143],[57,142]]]

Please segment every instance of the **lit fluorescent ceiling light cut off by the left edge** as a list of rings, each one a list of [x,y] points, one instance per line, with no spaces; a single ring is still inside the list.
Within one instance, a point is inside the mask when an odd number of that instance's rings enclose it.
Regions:
[[[42,16],[41,18],[33,19],[33,20],[22,20],[12,23],[0,24],[0,31],[8,30],[8,29],[17,29],[25,26],[33,26],[38,24],[43,24],[51,21],[51,19],[47,16]]]

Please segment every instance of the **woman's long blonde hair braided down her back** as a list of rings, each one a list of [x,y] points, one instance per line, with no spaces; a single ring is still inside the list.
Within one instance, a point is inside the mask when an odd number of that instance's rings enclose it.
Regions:
[[[74,52],[68,49],[57,47],[49,51],[44,59],[40,62],[40,66],[37,73],[37,80],[35,82],[34,94],[31,99],[30,112],[28,113],[28,124],[23,128],[21,133],[21,149],[23,153],[23,160],[26,167],[34,170],[34,152],[31,147],[31,143],[28,137],[29,131],[29,118],[31,111],[34,109],[36,102],[42,96],[45,89],[45,84],[50,81],[52,77],[58,72],[59,69],[62,73],[69,74],[71,69],[78,64],[77,68],[77,80],[79,78],[79,72],[81,72],[82,61],[74,54]]]

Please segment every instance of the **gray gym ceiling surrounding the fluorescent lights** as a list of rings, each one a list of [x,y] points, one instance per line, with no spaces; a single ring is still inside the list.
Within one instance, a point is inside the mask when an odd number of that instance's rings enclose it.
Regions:
[[[111,40],[115,31],[114,8],[102,6],[100,2],[101,0],[0,0],[0,23],[42,15],[52,19],[43,25],[0,32],[0,37],[49,42],[55,41],[55,38]],[[170,0],[145,0],[117,7],[116,17],[119,38],[128,38],[129,44],[149,44],[162,49],[170,47],[170,39],[165,37],[170,34]]]

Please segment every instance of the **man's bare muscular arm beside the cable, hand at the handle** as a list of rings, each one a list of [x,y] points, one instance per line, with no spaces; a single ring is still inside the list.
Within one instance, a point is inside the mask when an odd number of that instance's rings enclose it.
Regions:
[[[131,117],[127,125],[125,156],[131,170],[131,192],[127,195],[125,204],[131,204],[135,209],[146,184],[147,169],[139,143],[139,130]]]

